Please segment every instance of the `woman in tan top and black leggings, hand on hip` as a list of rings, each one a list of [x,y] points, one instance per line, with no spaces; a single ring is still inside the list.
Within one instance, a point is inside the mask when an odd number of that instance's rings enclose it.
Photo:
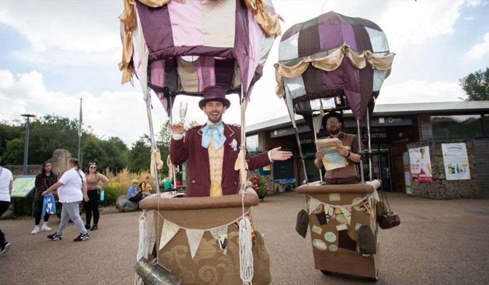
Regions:
[[[97,165],[95,162],[88,163],[87,171],[85,173],[87,176],[87,194],[88,202],[84,202],[85,214],[87,217],[87,222],[85,223],[85,228],[90,229],[90,222],[92,220],[93,214],[93,226],[90,230],[96,230],[99,228],[99,200],[100,200],[100,189],[103,188],[109,182],[109,179],[105,177],[102,173],[97,171]]]

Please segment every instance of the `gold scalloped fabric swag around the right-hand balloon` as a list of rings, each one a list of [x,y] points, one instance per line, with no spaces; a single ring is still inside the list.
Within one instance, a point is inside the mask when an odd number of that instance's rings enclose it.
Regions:
[[[325,57],[314,58],[312,56],[307,56],[294,66],[275,63],[275,79],[277,80],[276,93],[280,98],[284,97],[284,77],[292,78],[304,73],[309,67],[309,64],[324,71],[335,70],[340,66],[345,56],[356,68],[364,68],[368,62],[370,66],[377,70],[388,70],[388,76],[392,61],[394,60],[394,55],[395,53],[391,52],[384,56],[375,56],[370,50],[365,50],[361,54],[357,54],[348,44],[344,43],[338,50]]]

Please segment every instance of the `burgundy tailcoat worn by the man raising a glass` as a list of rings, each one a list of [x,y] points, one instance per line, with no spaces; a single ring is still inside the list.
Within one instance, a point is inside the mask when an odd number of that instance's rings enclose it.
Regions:
[[[221,147],[224,147],[224,157],[222,161],[222,194],[237,194],[239,190],[239,171],[234,170],[241,144],[241,128],[236,125],[223,124],[226,141]],[[202,125],[192,127],[186,131],[183,139],[171,139],[170,159],[174,165],[184,163],[188,159],[188,179],[187,179],[187,196],[204,197],[210,195],[210,170],[209,170],[209,152],[202,147]],[[235,139],[236,150],[231,146],[232,140]],[[257,156],[250,156],[248,151],[246,155],[248,169],[254,170],[270,164],[268,153],[263,152]]]

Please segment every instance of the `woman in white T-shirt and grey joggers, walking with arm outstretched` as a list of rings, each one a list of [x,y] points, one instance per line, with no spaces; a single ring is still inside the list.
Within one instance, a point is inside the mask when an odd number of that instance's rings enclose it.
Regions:
[[[87,229],[80,217],[78,205],[82,200],[88,201],[87,182],[85,173],[80,170],[80,163],[76,158],[68,159],[66,171],[53,186],[43,192],[43,196],[58,189],[58,198],[62,203],[61,222],[55,233],[48,235],[49,239],[61,240],[68,221],[71,219],[80,230],[80,235],[74,241],[90,239]]]

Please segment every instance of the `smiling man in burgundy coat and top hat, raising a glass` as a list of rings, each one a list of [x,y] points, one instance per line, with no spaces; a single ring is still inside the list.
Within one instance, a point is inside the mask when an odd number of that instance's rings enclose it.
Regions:
[[[207,115],[206,124],[194,126],[184,135],[183,122],[170,123],[173,133],[171,162],[178,165],[188,159],[188,197],[237,194],[239,171],[234,170],[234,163],[241,144],[241,129],[221,120],[230,105],[222,87],[207,86],[203,95],[199,107]],[[292,152],[280,149],[277,147],[257,156],[250,156],[247,152],[248,169],[261,168],[274,160],[286,160],[292,156]]]

